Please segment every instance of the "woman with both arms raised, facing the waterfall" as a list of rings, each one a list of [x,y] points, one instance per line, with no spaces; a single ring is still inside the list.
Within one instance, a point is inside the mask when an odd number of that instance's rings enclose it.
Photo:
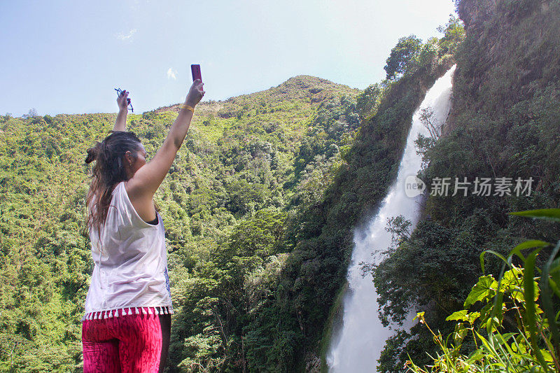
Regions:
[[[87,149],[96,161],[87,192],[94,269],[82,324],[83,371],[162,372],[173,314],[158,190],[204,91],[195,80],[162,147],[150,162],[126,132],[127,97],[118,99],[112,133]]]

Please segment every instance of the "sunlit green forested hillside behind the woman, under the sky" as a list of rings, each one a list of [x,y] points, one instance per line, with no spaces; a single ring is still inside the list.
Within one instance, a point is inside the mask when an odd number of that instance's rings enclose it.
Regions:
[[[359,125],[357,94],[328,80],[297,76],[269,90],[197,106],[183,148],[155,196],[167,231],[177,318],[193,301],[193,287],[222,280],[211,273],[216,261],[246,272],[231,280],[241,283],[221,284],[243,292],[244,276],[258,277],[284,258],[279,253],[285,249],[276,245],[283,220],[307,195],[321,193],[311,179],[340,162],[340,150]],[[176,115],[176,106],[129,115],[127,127],[142,139],[148,158]],[[114,120],[114,114],[0,117],[2,371],[80,367],[79,319],[92,271],[83,233],[85,150],[109,133]],[[251,262],[232,264],[241,251]],[[200,298],[207,301],[205,294]],[[204,329],[206,316],[196,314],[196,305],[188,307],[185,314],[200,317],[195,323]],[[174,349],[187,350],[182,340],[174,343]],[[214,347],[209,356],[223,356],[229,348]],[[172,360],[180,363],[182,356],[188,351]]]

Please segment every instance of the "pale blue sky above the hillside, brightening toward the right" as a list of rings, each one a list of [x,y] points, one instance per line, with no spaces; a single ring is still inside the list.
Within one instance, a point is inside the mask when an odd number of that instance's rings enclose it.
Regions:
[[[1,1],[0,114],[134,113],[182,101],[201,64],[204,99],[300,74],[363,89],[398,38],[440,36],[452,0]]]

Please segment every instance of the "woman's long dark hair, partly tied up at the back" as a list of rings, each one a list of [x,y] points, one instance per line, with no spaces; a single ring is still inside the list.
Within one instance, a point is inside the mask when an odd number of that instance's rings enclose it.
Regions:
[[[127,151],[132,153],[134,160],[137,151],[141,150],[141,141],[134,132],[111,131],[102,142],[87,149],[85,163],[95,162],[92,168],[90,190],[87,192],[87,227],[97,228],[101,232],[101,226],[105,223],[111,197],[116,185],[121,181],[127,181],[128,176],[125,169],[124,157]],[[95,200],[93,201],[93,199]]]

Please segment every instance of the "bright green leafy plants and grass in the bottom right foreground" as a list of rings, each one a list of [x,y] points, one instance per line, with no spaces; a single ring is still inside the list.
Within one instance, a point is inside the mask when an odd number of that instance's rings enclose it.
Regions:
[[[560,209],[512,215],[560,222]],[[542,269],[535,265],[537,256],[551,248]],[[525,256],[523,252],[528,250],[531,252]],[[498,280],[491,274],[479,277],[465,300],[465,308],[447,317],[456,325],[446,339],[431,330],[424,312],[419,312],[416,318],[430,330],[440,351],[433,357],[433,365],[419,367],[407,360],[405,366],[417,373],[560,371],[559,251],[560,240],[556,244],[529,240],[515,246],[507,257],[491,250],[482,252],[483,273],[486,253],[503,261]],[[517,259],[520,265],[514,264]],[[482,308],[477,307],[478,302]],[[465,354],[462,347],[468,336],[472,337],[475,349]]]

